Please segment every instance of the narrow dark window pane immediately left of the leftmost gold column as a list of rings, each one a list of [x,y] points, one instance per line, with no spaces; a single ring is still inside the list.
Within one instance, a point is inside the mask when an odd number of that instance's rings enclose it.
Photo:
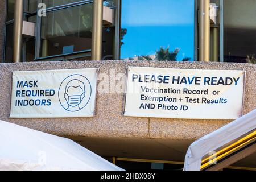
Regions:
[[[6,26],[5,63],[13,62],[13,23]]]

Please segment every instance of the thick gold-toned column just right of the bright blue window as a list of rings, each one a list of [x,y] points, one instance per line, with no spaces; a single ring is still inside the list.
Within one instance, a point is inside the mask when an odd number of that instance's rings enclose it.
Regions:
[[[210,0],[199,3],[199,61],[210,61]]]

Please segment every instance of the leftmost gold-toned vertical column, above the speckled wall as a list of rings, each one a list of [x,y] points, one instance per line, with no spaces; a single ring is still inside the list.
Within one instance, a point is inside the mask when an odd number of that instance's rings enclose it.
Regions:
[[[22,22],[23,22],[23,5],[24,1],[15,1],[14,6],[14,44],[13,44],[13,61],[21,61],[22,54]]]

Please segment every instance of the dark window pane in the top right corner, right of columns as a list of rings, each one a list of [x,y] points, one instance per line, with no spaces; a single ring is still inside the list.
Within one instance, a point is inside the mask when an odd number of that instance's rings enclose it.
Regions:
[[[254,60],[256,1],[224,0],[224,61]]]

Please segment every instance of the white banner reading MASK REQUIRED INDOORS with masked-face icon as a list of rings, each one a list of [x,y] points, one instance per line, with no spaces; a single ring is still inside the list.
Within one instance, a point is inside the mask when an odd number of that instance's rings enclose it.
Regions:
[[[93,117],[98,68],[13,72],[10,118]]]

